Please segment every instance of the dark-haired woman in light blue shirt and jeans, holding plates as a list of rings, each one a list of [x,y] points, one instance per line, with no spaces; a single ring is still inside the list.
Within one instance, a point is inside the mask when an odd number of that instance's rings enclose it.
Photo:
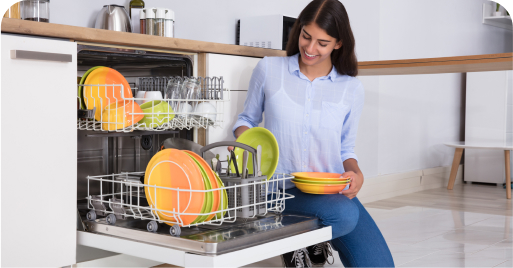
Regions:
[[[351,184],[340,194],[306,194],[287,182],[285,213],[315,216],[332,227],[331,245],[346,267],[391,267],[392,255],[357,193],[364,177],[354,153],[364,90],[355,41],[344,6],[314,0],[301,12],[287,44],[287,57],[265,57],[253,71],[235,137],[262,122],[280,146],[276,172],[342,173]],[[323,265],[323,243],[283,255],[284,264]]]

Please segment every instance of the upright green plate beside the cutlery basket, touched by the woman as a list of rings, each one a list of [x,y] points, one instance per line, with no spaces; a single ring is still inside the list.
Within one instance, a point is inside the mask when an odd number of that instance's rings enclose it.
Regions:
[[[278,148],[278,141],[271,133],[271,131],[263,128],[263,127],[254,127],[248,129],[242,133],[242,135],[237,138],[237,142],[249,145],[253,148],[257,148],[258,145],[262,145],[262,174],[267,175],[267,179],[269,180],[274,171],[276,171],[276,167],[278,166],[278,159],[280,157],[280,149]],[[239,168],[239,172],[242,174],[242,153],[244,149],[235,148],[234,150],[235,156],[237,157],[237,167]],[[249,153],[248,157],[248,170],[249,174],[253,174],[253,154]],[[233,167],[233,163],[230,163],[232,173],[235,173],[235,168]]]

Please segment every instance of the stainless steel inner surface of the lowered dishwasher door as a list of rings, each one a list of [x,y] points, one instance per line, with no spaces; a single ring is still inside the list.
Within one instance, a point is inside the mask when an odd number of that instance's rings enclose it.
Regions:
[[[169,226],[160,225],[156,233],[148,232],[148,221],[118,220],[108,225],[105,219],[94,222],[83,218],[87,231],[112,235],[144,243],[176,248],[201,255],[221,255],[285,237],[321,228],[317,218],[299,215],[270,215],[246,223],[182,228],[180,237],[169,234]],[[208,228],[204,228],[208,227]]]

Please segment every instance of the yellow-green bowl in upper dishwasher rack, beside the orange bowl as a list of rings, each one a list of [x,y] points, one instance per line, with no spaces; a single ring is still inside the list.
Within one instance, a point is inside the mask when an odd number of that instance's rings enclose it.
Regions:
[[[149,101],[141,104],[141,109],[145,115],[139,124],[146,124],[149,128],[162,126],[175,118],[173,108],[165,101]]]

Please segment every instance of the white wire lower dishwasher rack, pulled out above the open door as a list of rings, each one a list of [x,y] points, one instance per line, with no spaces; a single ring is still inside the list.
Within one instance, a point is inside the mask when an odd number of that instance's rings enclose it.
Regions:
[[[105,222],[110,225],[116,225],[117,220],[135,219],[148,221],[147,230],[156,232],[159,224],[170,225],[170,234],[180,236],[183,227],[194,227],[200,225],[222,225],[224,223],[234,223],[238,219],[247,221],[248,219],[262,217],[268,212],[281,214],[285,209],[285,200],[294,198],[293,195],[285,193],[285,182],[293,177],[289,174],[275,174],[271,180],[267,176],[252,177],[237,181],[237,177],[221,177],[221,180],[229,186],[210,190],[190,190],[168,188],[155,185],[144,184],[142,178],[144,172],[126,172],[121,174],[88,176],[88,196],[86,215],[88,221],[95,221],[98,216],[105,216]],[[89,189],[92,184],[98,183],[100,194],[89,195]],[[111,184],[111,193],[104,193],[104,183]],[[281,186],[281,187],[279,187]],[[280,189],[281,188],[281,189]],[[218,193],[218,196],[227,196],[219,198],[218,209],[213,209],[206,213],[191,213],[187,209],[191,203],[193,195],[198,193]],[[146,194],[153,196],[154,202],[148,202]],[[159,195],[171,195],[172,210],[161,209],[157,203]],[[180,195],[184,196],[188,204],[180,206]],[[174,197],[174,198],[173,198]],[[227,202],[227,204],[226,204]],[[201,222],[192,222],[184,224],[185,216],[203,217],[207,220]]]

